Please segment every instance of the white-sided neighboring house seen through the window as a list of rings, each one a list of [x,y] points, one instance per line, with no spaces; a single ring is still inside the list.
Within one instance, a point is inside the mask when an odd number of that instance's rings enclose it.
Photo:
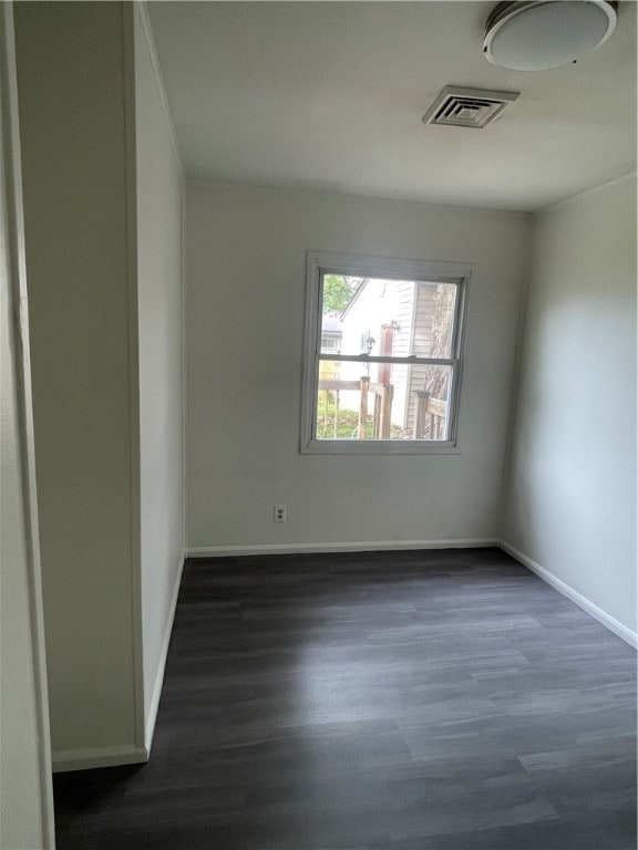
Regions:
[[[375,356],[432,356],[436,342],[434,312],[438,289],[436,283],[364,279],[340,317],[341,352]],[[325,317],[323,328],[328,326]],[[322,329],[322,339],[323,335]],[[392,384],[391,421],[401,428],[401,436],[414,435],[418,392],[430,390],[432,397],[446,401],[446,382],[442,386],[432,386],[431,366],[371,363],[364,369],[372,382]],[[354,381],[361,374],[360,363],[342,363],[339,377]],[[358,410],[359,393],[342,391],[340,404]],[[394,433],[394,436],[399,435]]]

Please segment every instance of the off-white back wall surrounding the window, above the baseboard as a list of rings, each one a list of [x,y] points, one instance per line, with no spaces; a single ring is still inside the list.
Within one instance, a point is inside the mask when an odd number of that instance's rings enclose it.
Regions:
[[[517,214],[192,183],[188,548],[495,538],[526,234]],[[298,453],[309,249],[476,263],[460,454]]]

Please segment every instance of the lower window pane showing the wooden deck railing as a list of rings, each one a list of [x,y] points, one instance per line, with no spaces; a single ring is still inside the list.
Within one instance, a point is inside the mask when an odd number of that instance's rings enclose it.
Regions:
[[[319,365],[317,439],[447,439],[451,366]]]

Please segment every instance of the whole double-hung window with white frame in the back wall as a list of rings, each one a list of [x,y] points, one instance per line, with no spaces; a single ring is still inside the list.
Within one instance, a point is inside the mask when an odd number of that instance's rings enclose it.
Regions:
[[[301,452],[456,450],[470,272],[308,255]]]

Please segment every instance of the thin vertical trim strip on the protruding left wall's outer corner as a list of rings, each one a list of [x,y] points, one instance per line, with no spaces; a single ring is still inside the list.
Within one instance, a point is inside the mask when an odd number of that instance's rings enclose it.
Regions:
[[[144,746],[144,647],[142,619],[140,333],[137,303],[137,168],[135,124],[135,33],[133,11],[122,4],[125,144],[126,277],[128,293],[128,427],[131,488],[131,629],[135,745]]]

